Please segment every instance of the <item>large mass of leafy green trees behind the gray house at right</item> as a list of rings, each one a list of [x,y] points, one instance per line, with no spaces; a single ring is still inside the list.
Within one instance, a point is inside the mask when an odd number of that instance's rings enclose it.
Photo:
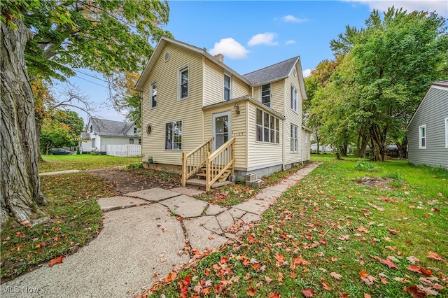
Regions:
[[[430,83],[448,79],[446,20],[395,8],[381,17],[374,10],[365,28],[347,26],[330,45],[339,63],[330,76],[323,71],[328,61],[311,72],[311,81],[326,82],[311,92],[311,118],[324,143],[370,143],[372,159],[383,160],[388,138],[405,146],[405,127]]]

